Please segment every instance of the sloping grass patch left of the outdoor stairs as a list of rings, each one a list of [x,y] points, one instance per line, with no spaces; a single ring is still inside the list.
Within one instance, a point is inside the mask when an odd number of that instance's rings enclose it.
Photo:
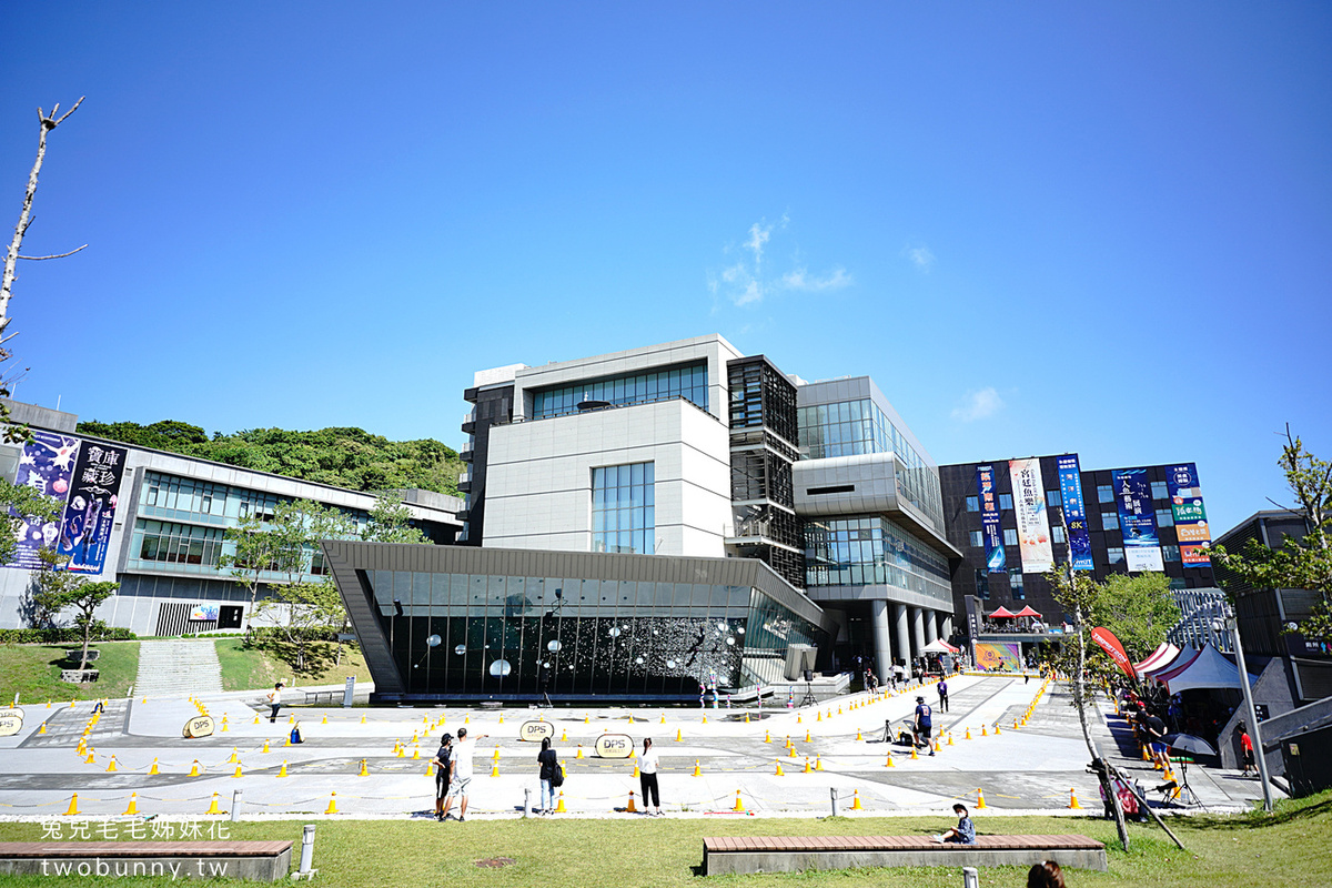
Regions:
[[[93,642],[101,651],[92,667],[101,675],[92,684],[67,684],[60,670],[75,668],[65,655],[77,654],[83,644],[0,644],[0,700],[20,703],[47,700],[91,700],[125,696],[139,675],[139,642]]]

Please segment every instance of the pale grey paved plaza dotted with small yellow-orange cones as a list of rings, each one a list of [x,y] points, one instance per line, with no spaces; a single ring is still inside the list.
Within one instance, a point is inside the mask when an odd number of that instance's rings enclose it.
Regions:
[[[0,739],[0,817],[64,816],[73,793],[83,816],[123,815],[132,793],[140,816],[201,816],[214,793],[218,809],[229,811],[237,789],[245,819],[322,815],[330,800],[337,816],[424,817],[433,809],[428,766],[438,738],[445,731],[457,735],[464,726],[474,736],[488,735],[477,744],[469,819],[521,816],[525,789],[537,804],[539,747],[519,740],[518,730],[535,719],[554,726],[554,747],[567,768],[567,816],[626,816],[630,792],[638,791],[637,759],[597,756],[594,746],[603,734],[629,735],[638,751],[645,736],[653,738],[662,759],[663,808],[671,816],[826,816],[834,788],[840,811],[851,816],[858,813],[856,793],[860,811],[878,816],[947,813],[958,800],[978,807],[978,792],[991,816],[1099,811],[1096,781],[1084,770],[1088,755],[1078,716],[1058,684],[1042,692],[1038,678],[964,675],[948,686],[950,711],[935,712],[935,732],[943,736],[939,752],[915,759],[908,747],[884,742],[884,722],[894,723],[894,732],[906,727],[918,694],[931,706],[938,702],[932,686],[762,714],[301,707],[284,710],[276,724],[266,708],[260,712],[254,692],[217,694],[201,704],[218,730],[201,739],[181,736],[182,726],[198,714],[193,702],[151,696],[112,700],[87,738],[91,754],[85,755],[76,748],[93,704],[47,708],[43,702],[24,707],[21,734]],[[1027,724],[1014,730],[1014,720],[1034,703]],[[1116,750],[1107,716],[1114,720],[1112,712],[1096,714],[1094,724],[1102,748],[1118,764],[1143,772],[1148,785],[1159,783],[1132,750]],[[300,720],[298,746],[285,746],[292,719]],[[1255,781],[1227,771],[1193,767],[1189,780],[1213,811],[1247,807],[1259,792]],[[734,812],[737,792],[745,815]],[[1071,792],[1086,811],[1070,809]]]

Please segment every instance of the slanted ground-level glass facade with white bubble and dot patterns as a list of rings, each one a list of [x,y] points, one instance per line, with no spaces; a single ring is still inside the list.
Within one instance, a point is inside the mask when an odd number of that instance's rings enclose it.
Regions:
[[[749,586],[376,570],[364,576],[410,696],[697,699],[701,684],[773,680],[787,646],[817,646],[821,635]]]

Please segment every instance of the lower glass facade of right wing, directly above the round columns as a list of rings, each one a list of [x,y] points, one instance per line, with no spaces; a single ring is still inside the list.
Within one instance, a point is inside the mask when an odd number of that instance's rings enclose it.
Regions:
[[[948,562],[879,517],[805,522],[810,586],[886,584],[952,600]]]

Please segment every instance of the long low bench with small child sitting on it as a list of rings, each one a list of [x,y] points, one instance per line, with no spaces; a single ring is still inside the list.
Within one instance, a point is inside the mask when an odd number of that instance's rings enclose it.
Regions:
[[[978,836],[974,845],[928,836],[721,836],[703,839],[703,875],[802,872],[848,867],[1030,867],[1051,860],[1108,868],[1106,845],[1087,836]]]

